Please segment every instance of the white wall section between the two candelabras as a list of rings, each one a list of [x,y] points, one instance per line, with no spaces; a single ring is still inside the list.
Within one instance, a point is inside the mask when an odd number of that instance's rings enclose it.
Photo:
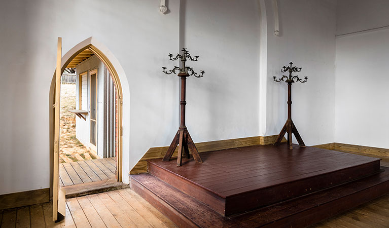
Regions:
[[[193,140],[258,136],[257,1],[186,1],[183,8],[182,46],[200,55],[198,62],[188,65],[197,72],[205,70],[203,78],[187,79],[186,121]],[[176,130],[178,120],[168,127]]]

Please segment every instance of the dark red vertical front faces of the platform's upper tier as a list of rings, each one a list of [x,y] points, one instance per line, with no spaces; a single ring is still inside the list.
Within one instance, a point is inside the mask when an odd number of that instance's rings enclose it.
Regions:
[[[200,187],[191,181],[175,175],[159,166],[149,163],[149,173],[178,188],[180,191],[201,201],[222,215],[232,215],[261,208],[291,198],[310,194],[348,181],[373,175],[379,172],[379,161],[349,167],[293,182],[286,182],[257,191],[246,192],[226,199]]]

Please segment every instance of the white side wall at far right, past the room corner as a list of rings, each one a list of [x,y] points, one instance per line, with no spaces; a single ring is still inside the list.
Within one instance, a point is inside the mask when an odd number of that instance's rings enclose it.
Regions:
[[[352,4],[352,8],[347,7]],[[335,141],[388,148],[387,1],[338,1]]]

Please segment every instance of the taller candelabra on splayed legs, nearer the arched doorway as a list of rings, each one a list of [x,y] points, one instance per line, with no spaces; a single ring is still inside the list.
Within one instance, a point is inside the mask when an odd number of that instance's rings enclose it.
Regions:
[[[174,66],[170,70],[166,70],[166,67],[162,67],[162,72],[166,74],[171,74],[171,73],[176,73],[178,72],[178,77],[181,78],[181,101],[180,101],[180,106],[181,106],[181,120],[180,120],[180,127],[177,133],[175,134],[173,141],[171,142],[169,148],[167,149],[167,152],[165,156],[163,157],[162,161],[169,161],[171,156],[174,153],[175,148],[177,145],[179,146],[179,151],[178,151],[178,157],[177,157],[177,166],[182,165],[182,157],[185,156],[186,158],[190,158],[189,151],[191,151],[193,158],[196,162],[202,163],[201,157],[198,153],[198,150],[196,148],[196,145],[194,144],[192,137],[190,136],[187,127],[185,126],[185,93],[186,93],[186,79],[190,75],[194,75],[196,78],[201,78],[203,77],[205,71],[200,70],[200,73],[197,73],[193,70],[192,67],[189,67],[186,65],[187,60],[191,61],[197,61],[199,56],[195,56],[194,58],[189,54],[189,52],[186,50],[186,48],[182,49],[183,54],[177,54],[173,58],[173,54],[169,54],[169,58],[171,61],[176,61],[180,59],[182,66]]]

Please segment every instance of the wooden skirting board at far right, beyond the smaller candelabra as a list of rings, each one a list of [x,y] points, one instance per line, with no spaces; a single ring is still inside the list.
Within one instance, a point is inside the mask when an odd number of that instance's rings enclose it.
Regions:
[[[332,142],[332,143],[326,143],[321,145],[314,145],[314,147],[345,151],[345,152],[356,152],[356,153],[376,155],[381,157],[389,157],[389,149],[371,147],[371,146],[361,146],[361,145]]]

